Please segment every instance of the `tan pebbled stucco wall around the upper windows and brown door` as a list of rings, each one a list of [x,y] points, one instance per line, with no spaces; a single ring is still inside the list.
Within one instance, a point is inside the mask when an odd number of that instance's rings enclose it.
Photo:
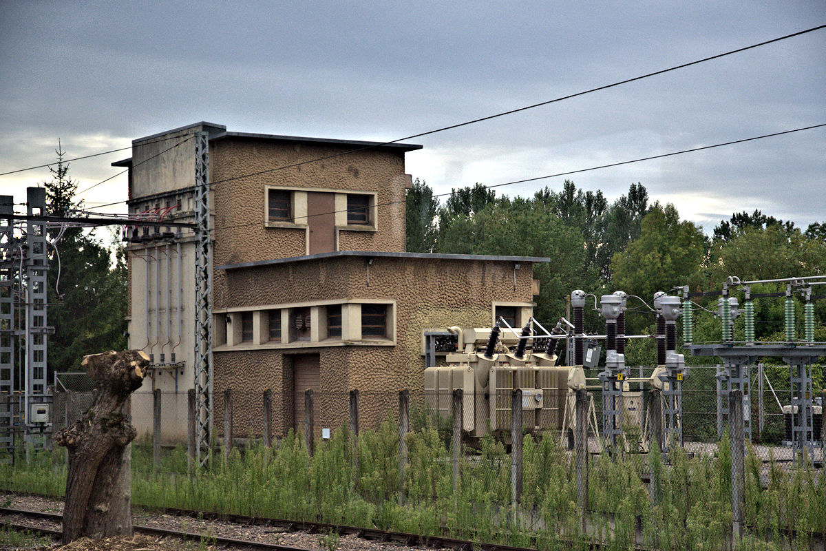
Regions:
[[[264,189],[268,185],[377,192],[377,204],[392,203],[378,207],[378,231],[341,230],[339,249],[404,250],[404,198],[408,178],[401,152],[368,150],[221,182],[225,178],[278,169],[352,149],[352,145],[290,144],[241,138],[211,141],[211,179],[216,182],[213,186],[215,264],[306,254],[305,230],[264,226]]]

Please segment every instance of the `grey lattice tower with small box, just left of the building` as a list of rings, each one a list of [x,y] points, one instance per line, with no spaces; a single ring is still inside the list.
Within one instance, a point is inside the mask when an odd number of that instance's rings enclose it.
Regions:
[[[44,216],[45,188],[26,189],[26,214]],[[26,221],[26,372],[23,394],[23,418],[26,441],[34,443],[34,433],[46,430],[44,423],[32,424],[32,406],[46,401],[46,277],[49,257],[46,250],[44,221]]]

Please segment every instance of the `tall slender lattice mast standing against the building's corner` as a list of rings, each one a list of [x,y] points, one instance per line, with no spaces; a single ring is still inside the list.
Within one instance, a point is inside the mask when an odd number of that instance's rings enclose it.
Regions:
[[[212,244],[207,132],[195,134],[195,438],[206,465],[212,435]]]

